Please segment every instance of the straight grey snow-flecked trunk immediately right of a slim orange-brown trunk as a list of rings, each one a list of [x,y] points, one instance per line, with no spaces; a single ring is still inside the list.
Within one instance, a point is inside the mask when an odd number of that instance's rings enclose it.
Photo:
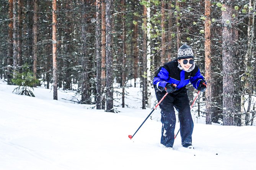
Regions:
[[[113,109],[112,0],[106,0],[106,112]]]

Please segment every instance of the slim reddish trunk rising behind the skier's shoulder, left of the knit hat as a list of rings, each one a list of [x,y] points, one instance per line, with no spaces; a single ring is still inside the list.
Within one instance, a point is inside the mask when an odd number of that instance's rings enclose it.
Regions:
[[[166,41],[165,41],[165,0],[162,0],[161,6],[161,29],[162,29],[162,40],[161,40],[161,64],[165,64],[166,62]]]

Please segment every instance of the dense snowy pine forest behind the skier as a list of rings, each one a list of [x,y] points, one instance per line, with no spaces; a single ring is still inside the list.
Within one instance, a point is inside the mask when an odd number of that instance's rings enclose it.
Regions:
[[[114,112],[113,83],[140,80],[142,109],[152,79],[186,43],[207,81],[206,123],[253,125],[256,0],[0,0],[0,78],[32,74],[33,87],[74,90],[79,103]],[[24,74],[25,73],[25,74]],[[52,85],[52,86],[51,86]],[[78,88],[74,88],[78,85]],[[193,100],[194,88],[188,95]],[[76,97],[76,96],[74,96]],[[128,106],[127,106],[128,107]],[[202,107],[205,109],[202,111]]]

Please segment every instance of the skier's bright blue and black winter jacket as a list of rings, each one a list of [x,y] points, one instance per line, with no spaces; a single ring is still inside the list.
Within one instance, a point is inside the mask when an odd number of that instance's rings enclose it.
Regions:
[[[204,80],[198,66],[195,66],[191,72],[186,72],[179,69],[178,64],[176,59],[166,63],[158,69],[157,74],[153,79],[153,85],[156,90],[163,91],[165,90],[167,83],[173,83],[177,85],[176,91],[178,92],[184,90],[189,82],[191,82],[194,88],[197,89],[200,81]]]

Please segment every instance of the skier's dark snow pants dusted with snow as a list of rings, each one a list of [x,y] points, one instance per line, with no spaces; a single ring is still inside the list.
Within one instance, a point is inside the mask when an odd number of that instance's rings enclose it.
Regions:
[[[158,102],[163,98],[166,91],[156,90]],[[175,93],[175,92],[174,92]],[[175,109],[178,111],[180,122],[181,144],[192,144],[192,132],[194,123],[190,113],[187,89],[184,88],[176,94],[168,94],[159,105],[161,108],[162,136],[161,144],[166,147],[173,147],[174,129],[176,123]]]

